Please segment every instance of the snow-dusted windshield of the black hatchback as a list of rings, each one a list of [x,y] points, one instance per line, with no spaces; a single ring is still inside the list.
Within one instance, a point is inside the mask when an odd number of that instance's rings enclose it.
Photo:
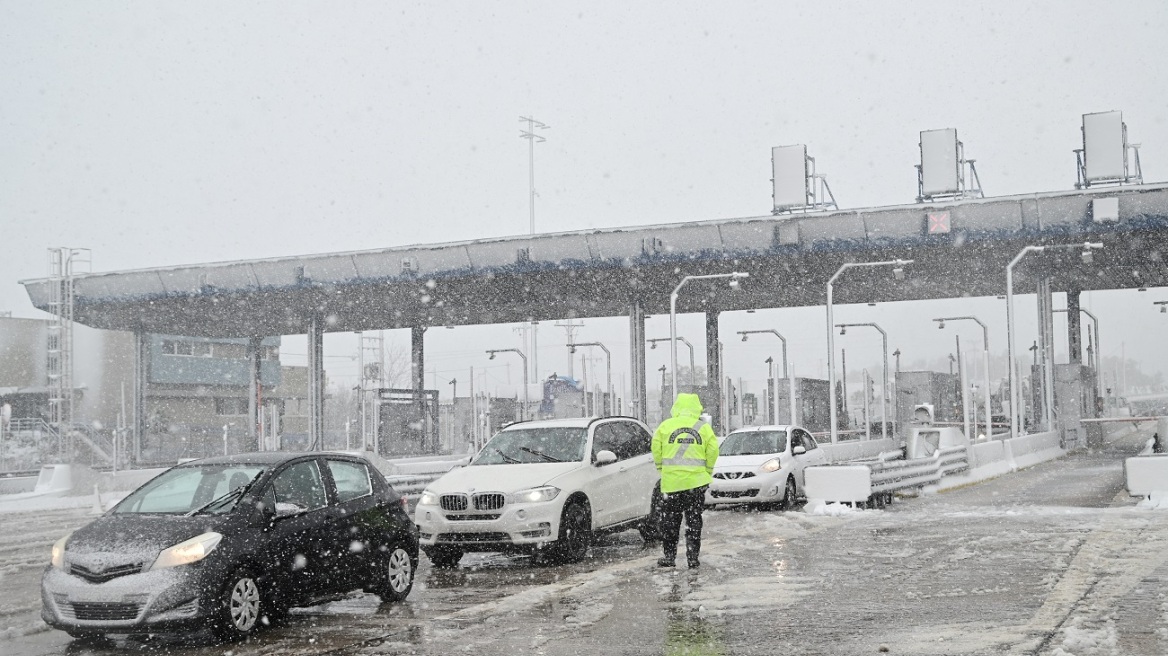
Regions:
[[[130,493],[113,507],[117,515],[186,515],[230,512],[239,501],[231,494],[251,484],[264,467],[259,465],[189,465],[164,472]]]

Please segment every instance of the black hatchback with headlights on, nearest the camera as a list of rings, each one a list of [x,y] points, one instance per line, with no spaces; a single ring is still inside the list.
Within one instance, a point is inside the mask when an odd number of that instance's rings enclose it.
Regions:
[[[230,640],[356,589],[401,601],[418,565],[404,505],[357,455],[187,462],[57,540],[41,615],[75,637],[210,627]]]

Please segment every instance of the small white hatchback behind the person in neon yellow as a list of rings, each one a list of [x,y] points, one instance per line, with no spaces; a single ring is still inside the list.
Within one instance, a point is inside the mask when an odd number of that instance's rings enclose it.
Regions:
[[[815,438],[798,426],[745,426],[718,446],[707,505],[756,503],[790,509],[804,496],[804,468],[826,465]]]

